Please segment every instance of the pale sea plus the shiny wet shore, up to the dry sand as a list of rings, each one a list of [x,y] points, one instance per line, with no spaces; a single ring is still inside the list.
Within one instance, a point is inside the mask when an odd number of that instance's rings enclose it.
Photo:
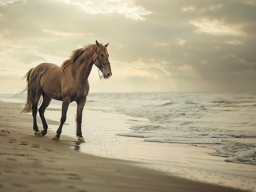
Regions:
[[[0,95],[0,100],[25,102],[25,94],[12,96]],[[59,122],[61,106],[52,100],[45,118]],[[75,114],[73,102],[62,130],[73,140]],[[85,143],[71,143],[79,152],[256,191],[255,117],[255,93],[89,94],[82,120]],[[38,126],[42,130],[39,117]],[[49,126],[54,132],[57,128]]]

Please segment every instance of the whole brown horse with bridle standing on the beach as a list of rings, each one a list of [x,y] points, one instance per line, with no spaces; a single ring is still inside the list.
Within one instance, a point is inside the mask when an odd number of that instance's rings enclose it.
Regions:
[[[82,112],[89,93],[88,77],[93,64],[103,73],[104,79],[109,79],[112,75],[107,53],[107,45],[90,44],[84,48],[73,51],[70,59],[63,62],[62,66],[53,63],[41,63],[26,73],[28,95],[26,104],[22,112],[31,112],[33,116],[33,130],[35,136],[45,136],[48,125],[44,118],[44,111],[51,102],[51,99],[62,101],[62,117],[56,136],[52,139],[59,140],[62,127],[66,120],[66,112],[69,104],[73,101],[77,103],[77,137],[79,142],[84,142],[82,136],[81,123]],[[38,112],[43,123],[41,132],[37,126],[37,106],[39,99],[43,97],[42,105]]]

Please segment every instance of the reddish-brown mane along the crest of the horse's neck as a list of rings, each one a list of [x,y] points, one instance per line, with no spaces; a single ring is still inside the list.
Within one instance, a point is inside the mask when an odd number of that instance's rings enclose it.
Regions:
[[[99,44],[99,45],[100,46],[98,47],[99,48],[98,51],[102,51],[105,47],[102,44]],[[66,67],[68,67],[69,65],[74,63],[79,58],[79,56],[81,56],[83,53],[89,52],[89,51],[92,51],[92,50],[96,51],[96,49],[97,49],[96,44],[89,44],[89,45],[86,45],[82,48],[78,48],[78,49],[74,50],[72,52],[70,58],[62,63],[62,65],[60,66],[60,69],[62,69],[62,72],[63,72],[63,70]]]

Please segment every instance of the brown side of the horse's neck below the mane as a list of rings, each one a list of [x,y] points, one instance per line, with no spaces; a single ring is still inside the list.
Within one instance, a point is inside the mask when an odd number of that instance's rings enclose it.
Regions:
[[[73,77],[76,79],[76,81],[78,82],[82,82],[85,83],[91,73],[92,70],[92,66],[93,66],[93,53],[87,53],[87,55],[85,55],[87,58],[89,59],[84,59],[84,58],[78,58],[77,62],[76,62],[76,66],[74,65],[72,67],[72,74]]]

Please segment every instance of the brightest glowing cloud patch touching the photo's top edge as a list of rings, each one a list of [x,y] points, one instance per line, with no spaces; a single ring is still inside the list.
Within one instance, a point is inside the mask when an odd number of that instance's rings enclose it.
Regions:
[[[71,0],[60,1],[80,6],[86,13],[119,13],[124,15],[126,18],[131,18],[134,20],[145,20],[143,16],[151,13],[151,11],[146,10],[142,6],[135,5],[131,0],[106,0],[103,3],[93,3],[92,1],[80,3]]]

